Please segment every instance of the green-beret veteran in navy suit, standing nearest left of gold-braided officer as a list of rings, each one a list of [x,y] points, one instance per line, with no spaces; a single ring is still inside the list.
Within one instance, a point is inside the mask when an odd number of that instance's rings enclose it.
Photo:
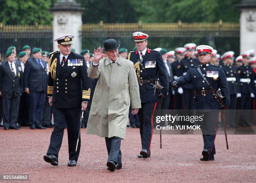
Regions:
[[[45,129],[42,126],[44,100],[47,89],[46,64],[41,60],[41,48],[33,48],[33,58],[25,64],[23,84],[28,94],[28,120],[31,129]]]

